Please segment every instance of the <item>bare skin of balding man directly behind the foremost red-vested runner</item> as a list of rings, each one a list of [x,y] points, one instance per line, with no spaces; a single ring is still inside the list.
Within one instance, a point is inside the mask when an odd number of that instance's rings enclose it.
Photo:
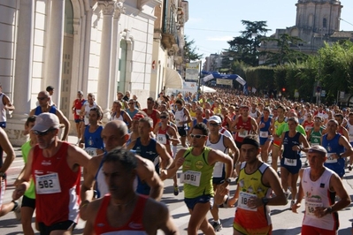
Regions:
[[[128,134],[122,135],[119,133],[119,125],[126,125],[124,122],[115,120],[107,123],[102,131],[102,139],[104,141],[105,150],[111,151],[113,148],[122,147],[126,148]],[[104,155],[97,155],[92,157],[88,163],[88,174],[85,178],[85,185],[93,185],[95,182],[96,172],[99,170],[99,166],[103,160]],[[144,159],[142,156],[135,155],[137,158],[136,174],[141,178],[142,181],[146,182],[150,186],[150,198],[160,201],[163,194],[163,182],[158,177],[155,171],[155,166],[150,161]],[[81,193],[82,190],[81,190]],[[81,219],[87,220],[90,215],[87,212],[87,207],[82,207],[85,203],[92,201],[81,202]]]

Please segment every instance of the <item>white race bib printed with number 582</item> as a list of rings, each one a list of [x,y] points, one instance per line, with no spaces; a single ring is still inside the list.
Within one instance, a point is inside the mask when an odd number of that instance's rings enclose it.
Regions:
[[[61,187],[58,173],[35,176],[35,191],[38,194],[60,193]]]

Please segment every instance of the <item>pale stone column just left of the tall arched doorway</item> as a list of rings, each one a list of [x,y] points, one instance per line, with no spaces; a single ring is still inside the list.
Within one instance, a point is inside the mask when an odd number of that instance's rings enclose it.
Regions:
[[[61,72],[63,66],[65,0],[51,0],[50,27],[47,41],[44,86],[55,88],[53,102],[60,107]],[[45,88],[44,87],[44,88]]]

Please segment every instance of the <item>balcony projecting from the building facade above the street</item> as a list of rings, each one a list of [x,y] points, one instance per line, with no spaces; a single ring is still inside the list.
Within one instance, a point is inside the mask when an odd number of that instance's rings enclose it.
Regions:
[[[162,45],[165,49],[172,49],[173,44],[178,42],[178,31],[175,18],[165,18],[162,29]]]

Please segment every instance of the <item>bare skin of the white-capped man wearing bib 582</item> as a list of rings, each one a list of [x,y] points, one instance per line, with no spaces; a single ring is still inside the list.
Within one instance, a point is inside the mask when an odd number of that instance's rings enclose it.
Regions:
[[[39,148],[42,149],[42,155],[44,157],[50,157],[52,155],[55,155],[58,152],[59,148],[61,148],[62,141],[58,140],[58,129],[55,129],[44,136],[37,135],[36,138],[37,138]],[[75,147],[73,145],[68,146],[66,154],[67,154],[66,155],[67,165],[69,166],[71,171],[73,172],[80,171],[79,166],[82,166],[84,167],[83,177],[85,178],[86,177],[85,169],[88,167],[88,161],[90,159],[90,156],[81,148]],[[19,197],[21,197],[29,187],[29,180],[32,175],[33,159],[34,159],[34,148],[31,148],[27,158],[26,169],[25,169],[23,178],[21,178],[21,183],[18,186],[16,186],[16,189],[12,193],[13,200],[18,200]],[[81,200],[86,201],[89,198],[92,198],[92,196],[93,196],[92,185],[82,184]],[[61,230],[52,231],[50,234],[71,234],[72,231],[73,231],[73,228],[70,228],[66,231],[61,231]]]

